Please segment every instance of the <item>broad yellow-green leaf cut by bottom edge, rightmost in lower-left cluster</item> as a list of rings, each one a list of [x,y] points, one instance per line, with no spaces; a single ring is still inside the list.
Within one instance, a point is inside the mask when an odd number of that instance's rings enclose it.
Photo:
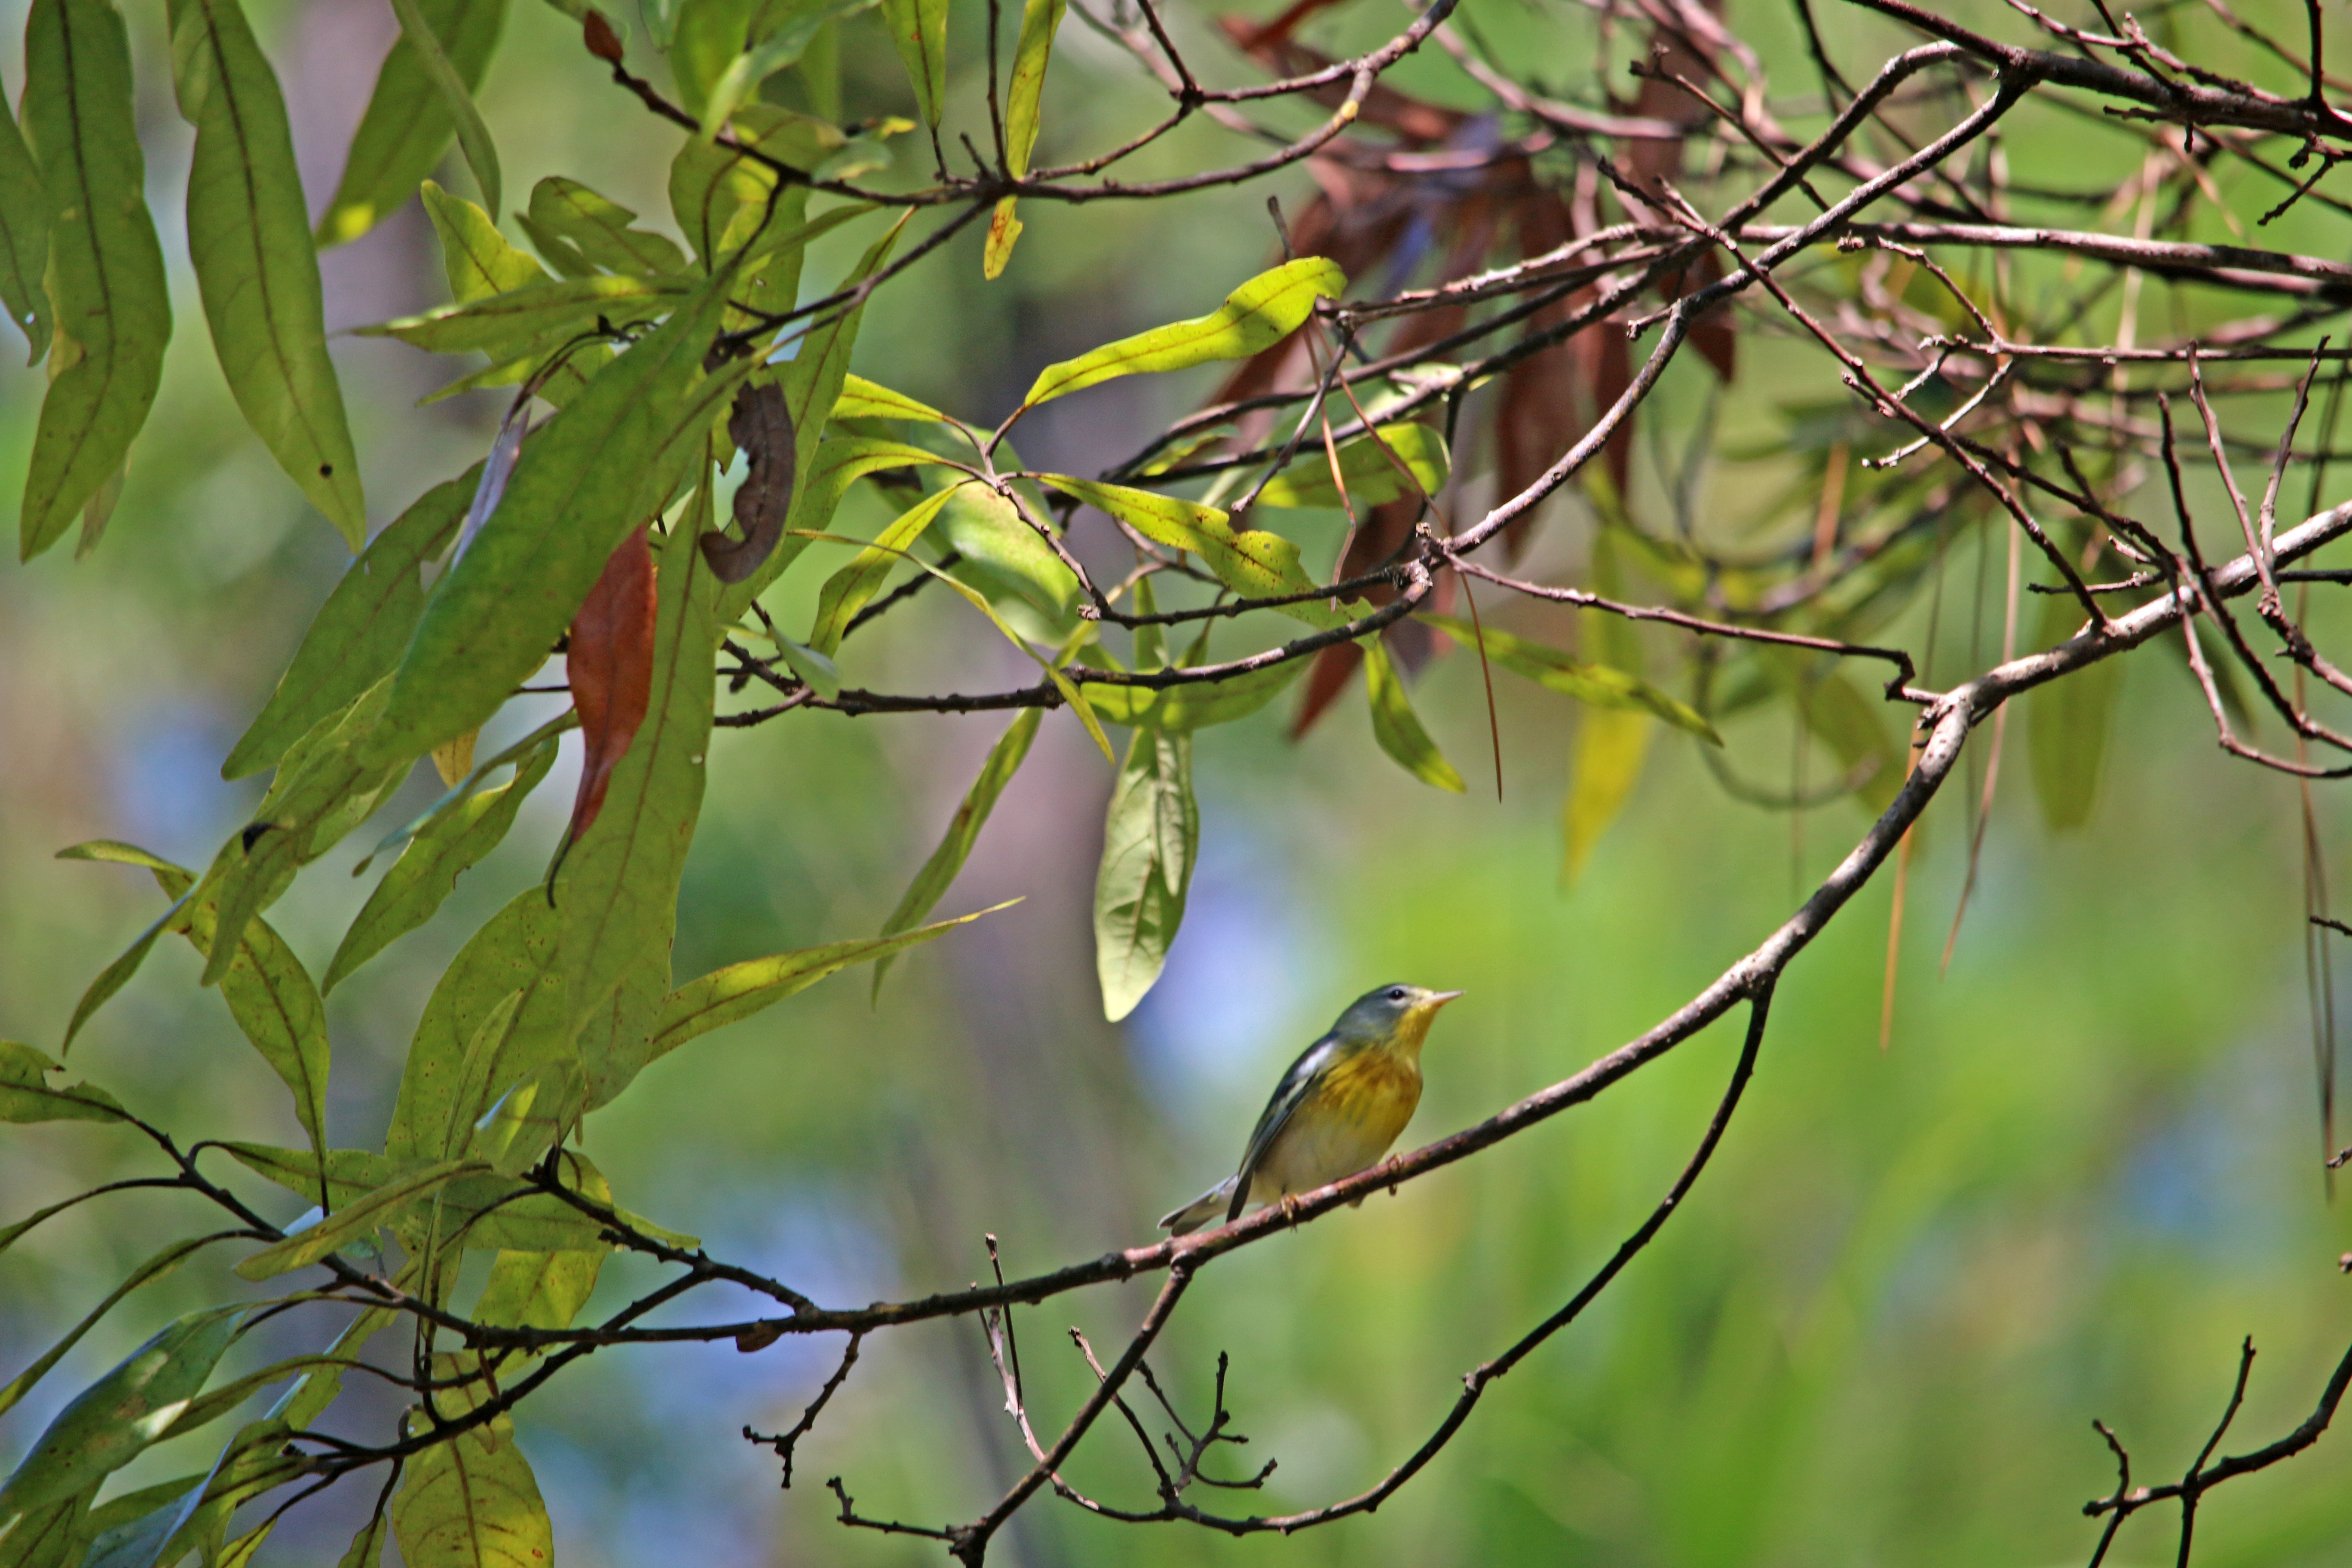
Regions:
[[[449,1378],[456,1356],[433,1356],[433,1366]],[[452,1420],[487,1396],[489,1389],[473,1380],[437,1389],[433,1403]],[[426,1418],[409,1425],[423,1432]],[[390,1521],[407,1568],[548,1568],[555,1561],[548,1505],[506,1415],[409,1458]]]

